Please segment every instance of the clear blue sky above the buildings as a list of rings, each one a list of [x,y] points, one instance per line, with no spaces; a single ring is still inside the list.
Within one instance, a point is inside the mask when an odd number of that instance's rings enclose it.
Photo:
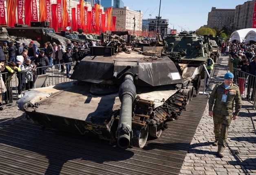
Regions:
[[[160,0],[122,0],[124,6],[132,10],[141,10],[143,19],[155,18],[159,13]],[[161,0],[160,16],[169,19],[174,28],[181,31],[196,30],[207,24],[208,12],[216,9],[235,9],[246,0]],[[180,27],[179,27],[180,26]],[[168,26],[173,28],[173,25]]]

